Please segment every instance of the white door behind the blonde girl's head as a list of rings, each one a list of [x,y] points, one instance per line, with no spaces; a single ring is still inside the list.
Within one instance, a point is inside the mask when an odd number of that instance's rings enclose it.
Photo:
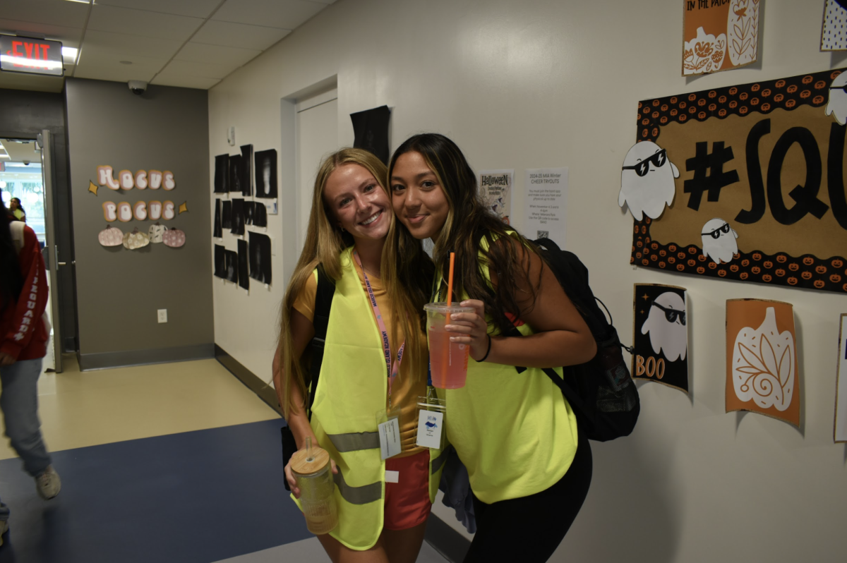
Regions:
[[[297,100],[297,254],[306,240],[315,176],[324,157],[338,150],[336,90]]]

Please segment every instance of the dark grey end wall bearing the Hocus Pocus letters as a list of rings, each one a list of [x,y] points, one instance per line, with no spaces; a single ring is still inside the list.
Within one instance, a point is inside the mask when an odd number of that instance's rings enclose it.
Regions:
[[[213,356],[208,200],[208,94],[149,86],[136,96],[121,82],[68,79],[68,142],[73,200],[80,367]],[[95,196],[97,166],[157,169],[174,174],[174,190],[110,190]],[[104,247],[104,201],[186,202],[187,213],[160,220],[185,232],[185,246],[149,245],[130,251]],[[155,221],[115,221],[113,227],[147,234]],[[159,324],[157,310],[168,310]]]

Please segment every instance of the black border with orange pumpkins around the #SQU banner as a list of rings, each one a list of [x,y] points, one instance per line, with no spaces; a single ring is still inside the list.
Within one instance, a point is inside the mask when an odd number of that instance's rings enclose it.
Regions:
[[[829,100],[830,83],[843,70],[826,70],[639,102],[638,141],[656,142],[662,126],[673,121],[726,119],[732,114],[770,113],[775,108],[791,111],[803,105],[821,107]],[[739,251],[732,262],[716,264],[706,258],[700,246],[681,246],[673,242],[662,244],[652,240],[651,223],[649,217],[634,221],[629,263],[712,278],[847,293],[847,257],[821,259],[811,254],[794,257],[785,252]]]

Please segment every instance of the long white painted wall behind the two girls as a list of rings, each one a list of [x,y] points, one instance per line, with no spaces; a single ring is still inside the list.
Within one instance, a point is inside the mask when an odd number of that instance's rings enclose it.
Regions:
[[[632,284],[689,289],[693,382],[690,398],[642,386],[634,435],[594,445],[587,504],[553,560],[844,560],[847,450],[833,444],[833,392],[847,300],[634,269],[632,220],[617,207],[639,100],[842,65],[845,55],[818,51],[822,9],[823,0],[767,0],[761,63],[686,80],[681,2],[340,0],[209,92],[210,167],[229,125],[239,143],[279,146],[280,98],[332,75],[339,145],[353,141],[349,113],[388,105],[392,146],[439,131],[474,168],[515,168],[518,228],[523,170],[567,166],[568,245],[623,339]],[[279,221],[270,230],[281,232]],[[217,343],[266,380],[281,281],[249,298],[215,284]],[[800,431],[724,413],[724,301],[750,296],[794,303]]]

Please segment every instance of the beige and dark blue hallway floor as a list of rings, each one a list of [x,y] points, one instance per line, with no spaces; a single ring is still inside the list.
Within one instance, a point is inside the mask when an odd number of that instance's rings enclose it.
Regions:
[[[43,501],[8,441],[0,563],[329,561],[285,492],[278,415],[214,360],[39,382],[42,432],[62,476]],[[444,563],[429,544],[419,562]]]

